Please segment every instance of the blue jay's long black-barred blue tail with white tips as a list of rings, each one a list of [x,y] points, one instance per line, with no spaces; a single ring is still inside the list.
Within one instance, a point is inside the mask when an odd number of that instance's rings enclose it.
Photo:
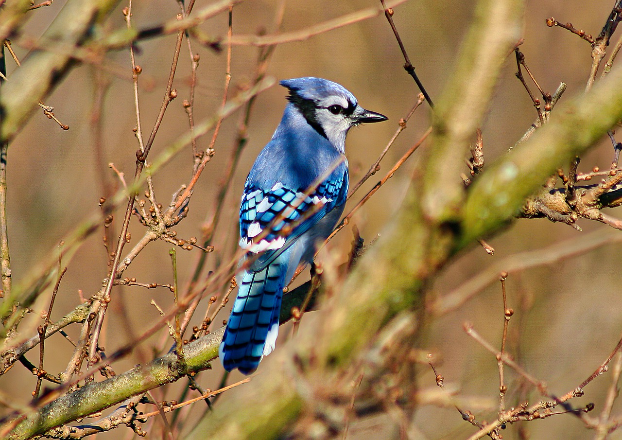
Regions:
[[[238,368],[243,374],[253,373],[261,358],[274,349],[287,260],[289,253],[285,252],[266,268],[241,274],[238,297],[218,350],[225,370]]]

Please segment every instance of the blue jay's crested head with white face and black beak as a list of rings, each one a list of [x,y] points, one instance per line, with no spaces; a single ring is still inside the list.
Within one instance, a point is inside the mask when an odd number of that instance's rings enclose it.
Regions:
[[[343,150],[348,130],[358,124],[386,121],[388,118],[358,105],[350,91],[322,78],[294,78],[279,84],[289,89],[287,99],[307,122],[338,149]]]

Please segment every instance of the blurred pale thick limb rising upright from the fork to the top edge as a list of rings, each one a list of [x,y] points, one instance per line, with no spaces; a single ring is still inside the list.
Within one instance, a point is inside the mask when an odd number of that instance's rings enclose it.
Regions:
[[[453,220],[464,198],[460,172],[501,67],[521,36],[522,1],[480,1],[452,79],[435,108],[433,143],[422,201],[435,221]],[[439,182],[443,182],[439,185]]]

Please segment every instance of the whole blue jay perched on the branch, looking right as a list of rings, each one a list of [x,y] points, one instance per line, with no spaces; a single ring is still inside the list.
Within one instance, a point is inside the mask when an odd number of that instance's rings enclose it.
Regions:
[[[283,288],[337,224],[348,195],[348,130],[386,121],[345,88],[321,78],[281,81],[283,118],[246,179],[239,245],[250,259],[220,344],[225,370],[253,373],[274,350]]]

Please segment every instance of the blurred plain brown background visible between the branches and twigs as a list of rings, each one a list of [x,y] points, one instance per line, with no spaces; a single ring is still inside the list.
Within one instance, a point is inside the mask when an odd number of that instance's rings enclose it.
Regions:
[[[49,26],[63,4],[62,0],[56,0],[52,6],[34,11],[24,28],[24,35],[36,39]],[[207,4],[208,1],[198,0],[195,11]],[[474,4],[474,1],[409,0],[395,7],[393,18],[397,29],[420,80],[433,100],[439,97],[452,73],[452,65],[470,23]],[[255,0],[234,7],[234,35],[276,32],[274,21],[279,5],[278,1]],[[377,2],[287,1],[281,30],[304,29],[370,6],[377,6]],[[568,88],[562,100],[582,93],[592,63],[591,48],[585,40],[559,27],[547,27],[545,19],[554,17],[563,23],[572,22],[577,29],[598,35],[612,6],[613,0],[527,2],[521,51],[545,91],[554,93],[563,81]],[[112,14],[109,29],[126,26],[121,7]],[[178,12],[177,2],[172,0],[136,1],[132,21],[137,29],[145,29],[174,18]],[[210,19],[201,29],[208,35],[223,37],[224,40],[227,26],[228,16],[225,13]],[[614,41],[618,39],[618,34],[614,34]],[[174,45],[175,35],[144,40],[137,44],[139,50],[136,62],[142,67],[139,84],[145,137],[151,131],[164,96]],[[18,57],[27,57],[27,50],[19,44],[14,43],[14,50]],[[194,107],[195,121],[200,122],[210,118],[220,106],[225,82],[226,51],[217,54],[196,41],[193,42],[193,51],[200,54]],[[258,49],[255,47],[233,47],[230,97],[248,87],[253,80],[257,57]],[[19,282],[40,258],[48,255],[83,218],[99,209],[98,200],[104,194],[104,184],[119,186],[118,177],[108,168],[109,163],[112,162],[119,171],[124,172],[128,182],[134,174],[137,141],[132,128],[136,126],[136,117],[128,50],[109,54],[105,63],[117,74],[102,72],[95,65],[81,65],[72,70],[62,85],[45,100],[46,105],[54,107],[60,121],[70,126],[69,131],[62,131],[57,124],[37,111],[9,148],[8,217],[14,283]],[[389,117],[386,123],[363,126],[348,136],[346,146],[350,180],[357,182],[388,143],[400,118],[407,115],[419,93],[412,78],[402,68],[403,64],[404,60],[388,22],[384,16],[378,16],[306,40],[279,45],[269,62],[267,75],[276,80],[303,76],[333,80],[348,88],[365,108]],[[188,99],[190,65],[190,55],[184,42],[174,83],[179,95],[167,110],[151,151],[152,159],[165,146],[188,131],[188,118],[182,101]],[[9,73],[13,68],[9,60]],[[537,116],[514,72],[516,62],[514,55],[511,55],[482,127],[485,159],[488,163],[513,146]],[[103,95],[101,115],[98,115],[95,103],[102,87],[107,89]],[[532,87],[532,90],[536,88]],[[274,85],[259,95],[256,101],[249,121],[248,145],[241,155],[221,212],[222,220],[213,243],[215,252],[208,259],[208,270],[215,269],[220,262],[228,261],[233,255],[238,240],[239,197],[244,179],[256,155],[269,141],[279,123],[285,95],[284,88]],[[98,118],[101,135],[95,139],[98,136]],[[223,123],[215,144],[215,156],[195,188],[188,217],[175,228],[178,236],[201,236],[206,219],[212,215],[218,185],[234,148],[238,124],[239,112]],[[353,197],[346,212],[420,138],[429,124],[430,110],[424,104],[415,111],[406,131],[389,150],[381,171],[369,179]],[[211,133],[199,139],[198,148],[206,149],[210,138]],[[96,149],[97,141],[101,143],[100,158]],[[422,146],[426,147],[427,144]],[[325,251],[332,253],[337,261],[345,261],[353,237],[352,225],[360,230],[366,243],[381,233],[383,225],[401,203],[419,155],[420,151],[415,152]],[[600,146],[582,157],[579,171],[588,172],[594,166],[607,169],[612,157],[611,143],[603,139]],[[191,172],[192,154],[187,149],[154,177],[157,200],[167,205],[175,190],[187,184]],[[611,215],[622,217],[622,212],[613,210]],[[123,211],[115,213],[115,234],[118,234],[122,218]],[[488,240],[495,250],[494,256],[487,255],[483,248],[475,245],[470,251],[457,256],[453,264],[435,281],[430,304],[434,303],[435,298],[460,288],[471,278],[481,276],[486,268],[499,264],[505,258],[559,243],[575,243],[597,230],[609,232],[608,227],[600,223],[583,220],[579,225],[583,232],[548,220],[514,222],[503,233]],[[132,242],[126,246],[126,251],[142,236],[144,227],[134,218],[130,232]],[[618,342],[622,330],[622,296],[619,287],[622,282],[619,268],[622,251],[620,240],[615,240],[616,232],[611,229],[610,233],[610,244],[598,246],[587,253],[561,258],[554,264],[515,271],[508,278],[508,306],[515,311],[509,324],[508,349],[525,370],[545,381],[550,392],[556,395],[576,388],[605,360]],[[102,235],[103,228],[81,246],[73,261],[68,264],[53,309],[52,321],[64,316],[78,304],[78,291],[90,297],[101,288],[102,280],[108,273]],[[412,245],[417,246],[417,243]],[[136,277],[137,281],[143,283],[172,283],[168,253],[170,247],[169,243],[161,241],[147,246],[125,276]],[[190,279],[199,253],[196,249],[178,250],[180,286],[185,286]],[[306,279],[308,275],[304,274],[299,278],[299,283]],[[150,304],[151,299],[155,299],[164,309],[173,302],[172,294],[167,289],[119,286],[113,290],[111,309],[100,343],[106,347],[107,352],[113,352],[128,343],[134,335],[140,334],[159,319],[158,311]],[[120,313],[121,303],[126,305],[129,312],[127,316]],[[42,304],[42,309],[47,309],[47,304]],[[226,307],[218,319],[226,319],[229,310]],[[204,312],[205,306],[200,305],[196,322],[200,322]],[[465,334],[463,322],[466,321],[472,322],[476,330],[495,347],[499,346],[503,329],[503,302],[498,281],[489,284],[452,311],[442,316],[430,315],[425,346],[420,348],[434,353],[437,359],[435,366],[445,377],[445,385],[457,393],[458,400],[462,398],[466,402],[463,409],[470,410],[480,420],[492,420],[496,418],[498,410],[496,359]],[[193,321],[193,324],[196,322]],[[77,339],[78,330],[78,326],[75,326],[67,331]],[[304,331],[304,321],[300,331]],[[163,334],[148,339],[142,343],[141,350],[115,362],[114,370],[121,373],[136,363],[153,358],[152,345],[164,347],[169,344]],[[290,335],[289,327],[284,327],[281,338]],[[64,370],[73,347],[60,335],[50,339],[46,347],[45,369],[53,374]],[[38,353],[38,350],[35,351]],[[30,362],[38,362],[37,353],[29,353]],[[517,405],[523,400],[531,403],[541,400],[536,392],[524,394],[519,378],[509,369],[506,372],[508,406]],[[202,373],[198,380],[206,388],[213,389],[220,382],[221,375],[220,363],[215,362],[214,370]],[[230,378],[230,382],[234,380],[239,380],[238,374]],[[421,368],[417,382],[422,389],[436,387],[429,367]],[[30,391],[34,385],[35,378],[21,365],[16,365],[0,380],[0,388],[20,403],[30,400]],[[171,400],[176,398],[179,386],[170,386],[164,397]],[[610,376],[597,378],[585,389],[585,396],[573,400],[572,405],[578,407],[593,402],[596,411],[600,410],[608,386]],[[197,406],[192,408],[197,408],[195,411],[199,412]],[[614,414],[620,413],[621,409],[620,405],[616,405]],[[412,424],[421,439],[468,438],[475,432],[475,428],[465,423],[455,408],[432,405],[421,406]],[[568,414],[524,424],[524,429],[534,439],[593,437],[593,432],[585,429],[577,417]],[[126,435],[116,430],[101,437],[119,438],[122,434]],[[399,426],[390,416],[380,414],[354,422],[348,438],[363,439],[370,435],[373,438],[399,438]],[[519,438],[518,427],[508,427],[504,438]],[[622,438],[622,433],[618,431],[611,438]]]

